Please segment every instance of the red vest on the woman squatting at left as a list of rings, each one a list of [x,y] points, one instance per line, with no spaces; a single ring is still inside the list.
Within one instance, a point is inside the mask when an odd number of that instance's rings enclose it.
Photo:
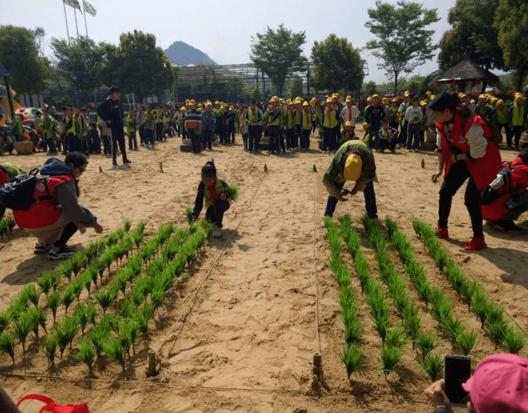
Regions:
[[[34,202],[29,209],[25,211],[13,211],[16,224],[20,228],[43,228],[54,224],[62,213],[62,208],[58,205],[57,199],[53,197],[56,187],[66,182],[73,182],[75,179],[68,175],[58,175],[56,177],[48,177],[41,179],[35,185],[35,199],[46,198],[41,201]]]

